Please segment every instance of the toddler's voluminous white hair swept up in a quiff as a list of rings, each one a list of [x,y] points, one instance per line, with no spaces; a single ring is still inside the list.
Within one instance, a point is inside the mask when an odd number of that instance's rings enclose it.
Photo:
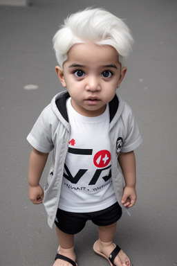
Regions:
[[[113,46],[118,52],[119,62],[124,66],[133,37],[127,25],[115,15],[102,8],[86,8],[64,19],[64,25],[53,37],[53,48],[59,66],[63,67],[73,45],[84,42]]]

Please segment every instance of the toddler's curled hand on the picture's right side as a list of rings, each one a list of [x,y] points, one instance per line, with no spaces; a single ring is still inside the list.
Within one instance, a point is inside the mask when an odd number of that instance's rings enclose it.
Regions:
[[[124,187],[124,193],[122,196],[121,203],[127,207],[131,208],[136,203],[136,188],[133,187]]]

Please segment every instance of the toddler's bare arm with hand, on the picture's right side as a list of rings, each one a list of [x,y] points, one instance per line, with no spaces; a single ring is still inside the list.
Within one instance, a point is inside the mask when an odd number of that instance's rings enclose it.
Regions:
[[[133,151],[120,152],[118,160],[126,184],[121,203],[130,208],[136,203],[136,157]]]

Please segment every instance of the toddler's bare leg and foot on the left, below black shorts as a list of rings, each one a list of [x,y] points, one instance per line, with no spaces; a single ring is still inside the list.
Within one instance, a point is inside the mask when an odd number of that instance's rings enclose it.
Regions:
[[[74,235],[64,233],[60,231],[57,227],[56,227],[56,231],[57,231],[57,238],[59,240],[58,253],[68,258],[71,258],[71,260],[75,261],[76,256],[75,256],[75,251],[74,251]],[[53,266],[65,266],[65,265],[68,266],[70,264],[68,264],[64,260],[60,260],[57,258]]]

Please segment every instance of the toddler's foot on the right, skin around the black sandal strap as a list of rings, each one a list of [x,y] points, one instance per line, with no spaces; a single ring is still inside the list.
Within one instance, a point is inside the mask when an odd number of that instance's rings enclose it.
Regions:
[[[116,245],[113,242],[102,242],[100,239],[95,242],[95,248],[98,252],[100,252],[102,255],[106,256],[106,258],[109,258],[109,255],[115,249]],[[111,263],[110,263],[111,264]],[[115,257],[113,264],[115,266],[131,266],[131,262],[129,260],[129,257],[122,251],[122,249],[119,251],[118,255]]]

